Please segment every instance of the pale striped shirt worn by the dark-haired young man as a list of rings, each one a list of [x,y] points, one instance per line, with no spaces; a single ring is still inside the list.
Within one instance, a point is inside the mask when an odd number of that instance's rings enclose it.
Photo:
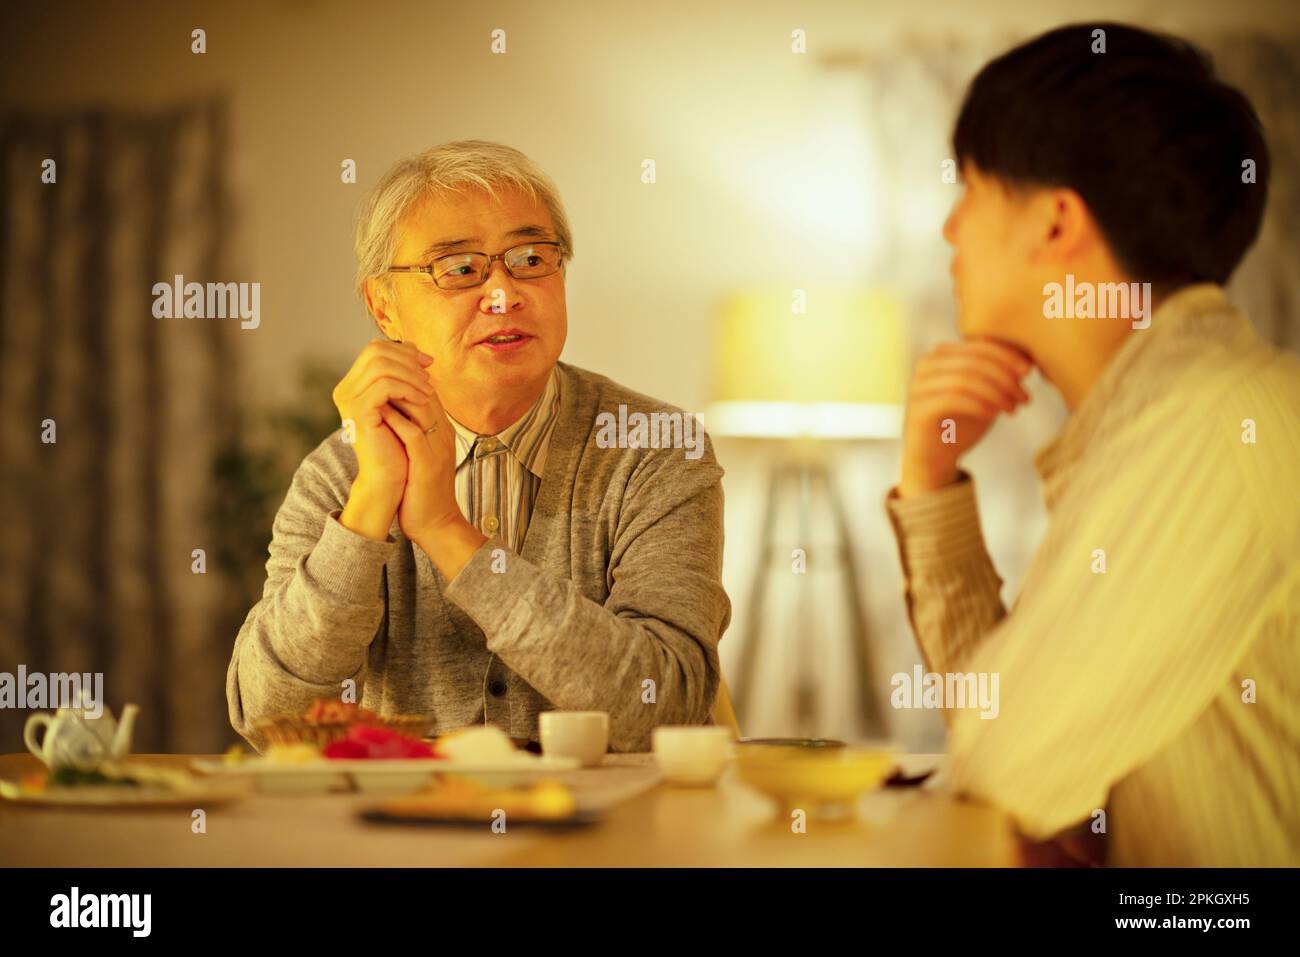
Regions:
[[[1113,865],[1300,863],[1300,360],[1186,287],[1035,465],[1010,611],[968,476],[887,501],[930,670],[998,677],[944,713],[954,787]]]

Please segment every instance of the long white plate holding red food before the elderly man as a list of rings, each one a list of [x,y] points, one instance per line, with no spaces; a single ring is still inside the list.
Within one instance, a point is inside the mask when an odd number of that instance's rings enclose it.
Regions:
[[[277,765],[265,758],[250,758],[228,765],[224,761],[195,759],[196,771],[213,775],[252,775],[268,792],[322,792],[351,780],[367,793],[407,793],[419,791],[439,774],[472,778],[488,787],[514,788],[556,771],[578,767],[576,758],[555,758],[520,752],[508,761],[447,761],[406,758],[394,761],[330,761],[321,758],[302,765]]]

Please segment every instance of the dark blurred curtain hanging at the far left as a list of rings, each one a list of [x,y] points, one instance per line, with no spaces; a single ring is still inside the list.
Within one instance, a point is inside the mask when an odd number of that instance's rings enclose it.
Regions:
[[[0,113],[0,671],[103,672],[140,753],[230,737],[229,584],[204,566],[239,322],[152,311],[176,274],[235,278],[226,130],[221,100]],[[0,710],[0,749],[30,713]]]

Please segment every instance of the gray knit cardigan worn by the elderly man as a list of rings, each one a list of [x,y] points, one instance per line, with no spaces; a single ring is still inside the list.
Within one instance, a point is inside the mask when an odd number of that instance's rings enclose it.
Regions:
[[[559,369],[523,554],[494,536],[450,584],[396,520],[386,542],[338,523],[358,467],[341,432],[303,460],[226,675],[250,744],[265,748],[259,722],[338,698],[347,679],[361,706],[432,713],[438,732],[488,720],[536,741],[540,711],[608,711],[611,749],[649,750],[655,726],[711,723],[731,620],[712,443],[696,459],[601,447],[601,412],[679,410]]]

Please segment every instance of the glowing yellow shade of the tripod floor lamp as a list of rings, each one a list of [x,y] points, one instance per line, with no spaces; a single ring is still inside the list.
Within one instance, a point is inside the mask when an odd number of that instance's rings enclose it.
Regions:
[[[907,372],[902,303],[885,290],[736,295],[719,315],[708,430],[897,437]]]

